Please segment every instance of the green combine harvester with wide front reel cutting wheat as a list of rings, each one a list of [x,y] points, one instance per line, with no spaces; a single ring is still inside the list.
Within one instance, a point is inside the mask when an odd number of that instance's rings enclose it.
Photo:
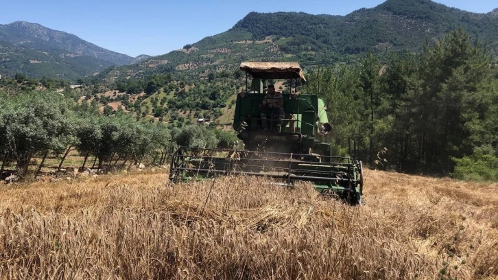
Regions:
[[[332,127],[321,98],[296,93],[298,82],[306,82],[299,64],[243,62],[240,69],[246,72],[246,91],[237,95],[233,129],[244,149],[180,146],[172,153],[169,179],[176,183],[220,175],[265,176],[289,186],[308,181],[322,194],[361,204],[361,161],[332,156],[331,143],[318,141],[318,135],[327,135]],[[263,102],[272,88],[265,85],[275,79],[288,80],[288,93],[268,95]],[[272,104],[273,97],[283,102]]]

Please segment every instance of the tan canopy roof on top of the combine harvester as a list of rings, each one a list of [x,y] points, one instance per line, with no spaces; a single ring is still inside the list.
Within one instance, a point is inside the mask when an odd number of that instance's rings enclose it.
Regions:
[[[240,69],[259,79],[301,79],[306,82],[298,62],[242,62]]]

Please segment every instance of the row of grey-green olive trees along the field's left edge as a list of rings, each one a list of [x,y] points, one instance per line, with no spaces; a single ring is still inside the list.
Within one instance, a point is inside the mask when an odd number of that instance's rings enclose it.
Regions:
[[[108,168],[117,159],[138,163],[156,152],[165,154],[174,145],[230,148],[236,140],[233,133],[202,125],[169,130],[161,122],[144,124],[123,111],[103,115],[88,103],[75,104],[52,92],[0,94],[0,118],[1,159],[15,161],[21,175],[33,156],[47,151],[60,154],[68,146],[85,158],[96,156],[98,168]]]

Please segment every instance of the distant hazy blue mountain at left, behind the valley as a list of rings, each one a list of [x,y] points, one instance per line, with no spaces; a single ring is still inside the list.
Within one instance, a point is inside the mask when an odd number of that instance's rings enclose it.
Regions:
[[[0,75],[23,72],[36,78],[75,80],[112,65],[136,63],[148,57],[132,58],[109,51],[37,23],[16,21],[0,25]]]

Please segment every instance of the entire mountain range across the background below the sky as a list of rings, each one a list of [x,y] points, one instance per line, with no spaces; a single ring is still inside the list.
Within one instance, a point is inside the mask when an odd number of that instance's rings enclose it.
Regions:
[[[42,65],[39,61],[45,61],[45,68],[54,66],[49,71],[53,75],[73,78],[102,71],[97,78],[108,82],[172,71],[206,78],[213,71],[235,70],[244,60],[294,60],[308,67],[348,63],[366,51],[384,55],[420,51],[425,42],[437,40],[458,27],[488,43],[490,53],[498,56],[498,34],[494,32],[498,30],[498,8],[488,13],[474,13],[431,0],[387,0],[374,8],[361,8],[345,16],[250,12],[226,32],[206,36],[185,45],[185,49],[137,58],[103,49],[78,36],[38,23],[15,21],[0,25],[0,45],[2,41],[11,44],[0,50],[0,72],[10,63],[11,72],[27,69],[40,75],[36,67]],[[40,60],[39,54],[33,55],[33,49],[53,57]],[[85,60],[86,56],[93,59]],[[19,62],[21,58],[22,63]],[[10,60],[18,61],[15,64]],[[32,61],[36,62],[36,67]],[[60,63],[66,63],[67,68],[74,70],[80,62],[85,69],[76,69],[70,75],[58,67]],[[112,69],[103,71],[106,67]]]

